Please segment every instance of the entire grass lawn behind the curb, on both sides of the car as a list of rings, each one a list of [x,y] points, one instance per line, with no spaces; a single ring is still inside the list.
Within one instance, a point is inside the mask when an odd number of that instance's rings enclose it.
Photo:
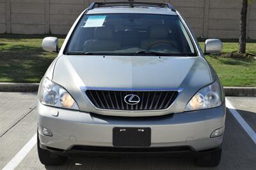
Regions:
[[[0,81],[39,82],[56,57],[41,48],[44,36],[0,35]],[[60,38],[60,44],[63,43]],[[204,43],[200,43],[204,49]],[[223,43],[223,52],[234,52],[237,43]],[[256,43],[247,44],[247,52],[256,55]],[[208,55],[224,86],[256,87],[256,60]]]

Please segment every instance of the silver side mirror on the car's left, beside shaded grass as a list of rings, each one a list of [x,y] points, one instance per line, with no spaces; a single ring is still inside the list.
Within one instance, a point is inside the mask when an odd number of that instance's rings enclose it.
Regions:
[[[59,40],[56,37],[46,37],[42,41],[42,48],[47,52],[59,52]]]

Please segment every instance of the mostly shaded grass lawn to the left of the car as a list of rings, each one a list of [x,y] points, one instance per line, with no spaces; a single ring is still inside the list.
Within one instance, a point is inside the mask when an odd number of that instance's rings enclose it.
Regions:
[[[43,36],[0,36],[0,81],[40,82],[57,53],[41,48]],[[60,39],[63,43],[64,39]]]

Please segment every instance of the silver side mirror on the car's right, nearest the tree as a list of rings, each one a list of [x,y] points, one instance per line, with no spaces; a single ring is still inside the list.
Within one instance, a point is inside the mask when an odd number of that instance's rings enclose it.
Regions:
[[[220,53],[222,51],[222,42],[220,39],[206,39],[205,41],[205,54]]]

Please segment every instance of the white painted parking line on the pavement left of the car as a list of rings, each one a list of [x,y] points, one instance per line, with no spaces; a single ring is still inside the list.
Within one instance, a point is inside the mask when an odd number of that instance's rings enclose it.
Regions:
[[[21,150],[13,157],[3,170],[13,170],[19,166],[20,162],[28,155],[31,149],[36,145],[36,134],[21,148]]]

